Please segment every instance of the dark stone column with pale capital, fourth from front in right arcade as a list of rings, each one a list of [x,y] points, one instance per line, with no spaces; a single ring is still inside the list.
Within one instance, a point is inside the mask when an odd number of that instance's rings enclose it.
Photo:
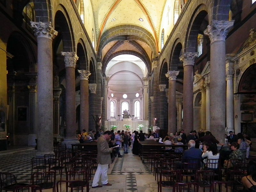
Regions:
[[[158,109],[159,109],[159,121],[158,127],[164,129],[164,97],[165,97],[165,87],[166,85],[160,84],[159,86],[159,100],[158,100]]]

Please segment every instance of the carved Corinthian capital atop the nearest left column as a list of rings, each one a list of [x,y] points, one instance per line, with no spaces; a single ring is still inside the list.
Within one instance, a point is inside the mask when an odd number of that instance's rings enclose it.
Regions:
[[[34,28],[35,36],[37,38],[44,37],[52,40],[58,34],[58,32],[52,28],[51,22],[42,23],[30,21],[30,25]]]

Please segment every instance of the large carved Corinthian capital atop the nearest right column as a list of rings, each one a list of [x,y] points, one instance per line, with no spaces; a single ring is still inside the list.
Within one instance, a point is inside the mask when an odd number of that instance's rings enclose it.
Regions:
[[[216,41],[225,41],[228,30],[233,26],[233,24],[234,20],[212,20],[212,24],[207,26],[207,29],[204,30],[204,34],[209,36],[211,44]]]

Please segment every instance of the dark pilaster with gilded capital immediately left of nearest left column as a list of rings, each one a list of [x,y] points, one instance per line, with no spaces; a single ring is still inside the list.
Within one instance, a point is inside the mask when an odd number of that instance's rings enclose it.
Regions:
[[[37,87],[36,85],[28,85],[29,90],[29,134],[28,145],[36,146],[36,101],[37,101]]]

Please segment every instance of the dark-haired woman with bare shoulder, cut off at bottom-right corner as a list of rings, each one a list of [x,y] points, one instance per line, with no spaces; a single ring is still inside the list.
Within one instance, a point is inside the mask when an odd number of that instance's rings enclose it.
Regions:
[[[247,165],[247,176],[242,178],[242,183],[244,184],[247,191],[256,191],[256,162],[251,160]]]

